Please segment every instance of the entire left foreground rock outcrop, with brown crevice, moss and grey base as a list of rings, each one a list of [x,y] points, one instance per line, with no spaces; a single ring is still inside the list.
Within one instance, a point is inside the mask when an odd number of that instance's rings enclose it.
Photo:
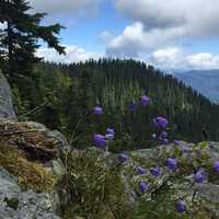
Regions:
[[[60,160],[69,145],[33,122],[0,122],[0,219],[59,219]]]

